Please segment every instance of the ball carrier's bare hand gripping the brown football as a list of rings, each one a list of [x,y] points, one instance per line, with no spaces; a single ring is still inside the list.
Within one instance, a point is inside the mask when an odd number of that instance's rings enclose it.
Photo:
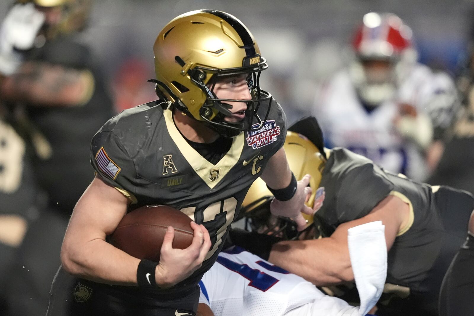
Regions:
[[[174,229],[168,226],[160,251],[160,262],[156,268],[156,284],[161,288],[171,287],[201,268],[209,252],[209,232],[203,225],[191,222],[194,231],[191,245],[186,249],[173,248]]]

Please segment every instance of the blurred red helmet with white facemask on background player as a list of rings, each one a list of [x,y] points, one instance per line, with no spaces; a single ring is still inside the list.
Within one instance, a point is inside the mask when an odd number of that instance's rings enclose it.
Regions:
[[[351,80],[369,107],[391,99],[417,59],[410,27],[393,13],[365,14],[352,46],[356,62],[350,67]]]

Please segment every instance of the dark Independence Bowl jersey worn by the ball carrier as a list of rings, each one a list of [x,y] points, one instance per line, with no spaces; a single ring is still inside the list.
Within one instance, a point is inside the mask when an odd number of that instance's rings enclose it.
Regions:
[[[283,146],[285,115],[272,103],[264,126],[234,137],[216,164],[183,138],[170,104],[160,100],[122,111],[94,136],[91,163],[103,181],[131,199],[130,209],[168,205],[208,229],[212,246],[206,260],[175,288],[196,284],[210,269],[247,190]]]

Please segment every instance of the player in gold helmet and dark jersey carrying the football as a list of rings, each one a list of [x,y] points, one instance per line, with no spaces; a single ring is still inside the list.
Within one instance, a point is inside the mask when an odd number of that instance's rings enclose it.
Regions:
[[[262,177],[273,214],[300,229],[310,176],[297,182],[282,149],[285,115],[260,88],[268,64],[249,30],[228,13],[174,18],[154,45],[159,100],[122,111],[93,137],[97,174],[79,199],[61,251],[48,316],[194,314],[198,281],[216,261],[250,185]],[[106,242],[124,215],[149,204],[193,222],[190,247],[173,249],[168,227],[160,262]],[[72,287],[66,280],[77,278]]]

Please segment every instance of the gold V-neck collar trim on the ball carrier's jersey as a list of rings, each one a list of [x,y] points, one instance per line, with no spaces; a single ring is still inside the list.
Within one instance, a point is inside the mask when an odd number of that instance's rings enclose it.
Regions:
[[[244,148],[244,133],[240,133],[234,137],[229,151],[214,165],[195,151],[194,148],[192,148],[183,138],[181,133],[178,131],[178,128],[174,125],[173,111],[171,109],[168,108],[163,110],[163,115],[168,133],[176,146],[178,146],[183,157],[191,165],[192,169],[194,169],[194,171],[201,177],[202,181],[204,181],[210,189],[213,189],[222,179],[224,179],[227,172],[229,172],[229,170],[238,162]],[[219,170],[219,172],[218,177],[214,179],[215,172],[211,173],[211,171],[215,170]],[[211,177],[210,175],[213,176]]]

